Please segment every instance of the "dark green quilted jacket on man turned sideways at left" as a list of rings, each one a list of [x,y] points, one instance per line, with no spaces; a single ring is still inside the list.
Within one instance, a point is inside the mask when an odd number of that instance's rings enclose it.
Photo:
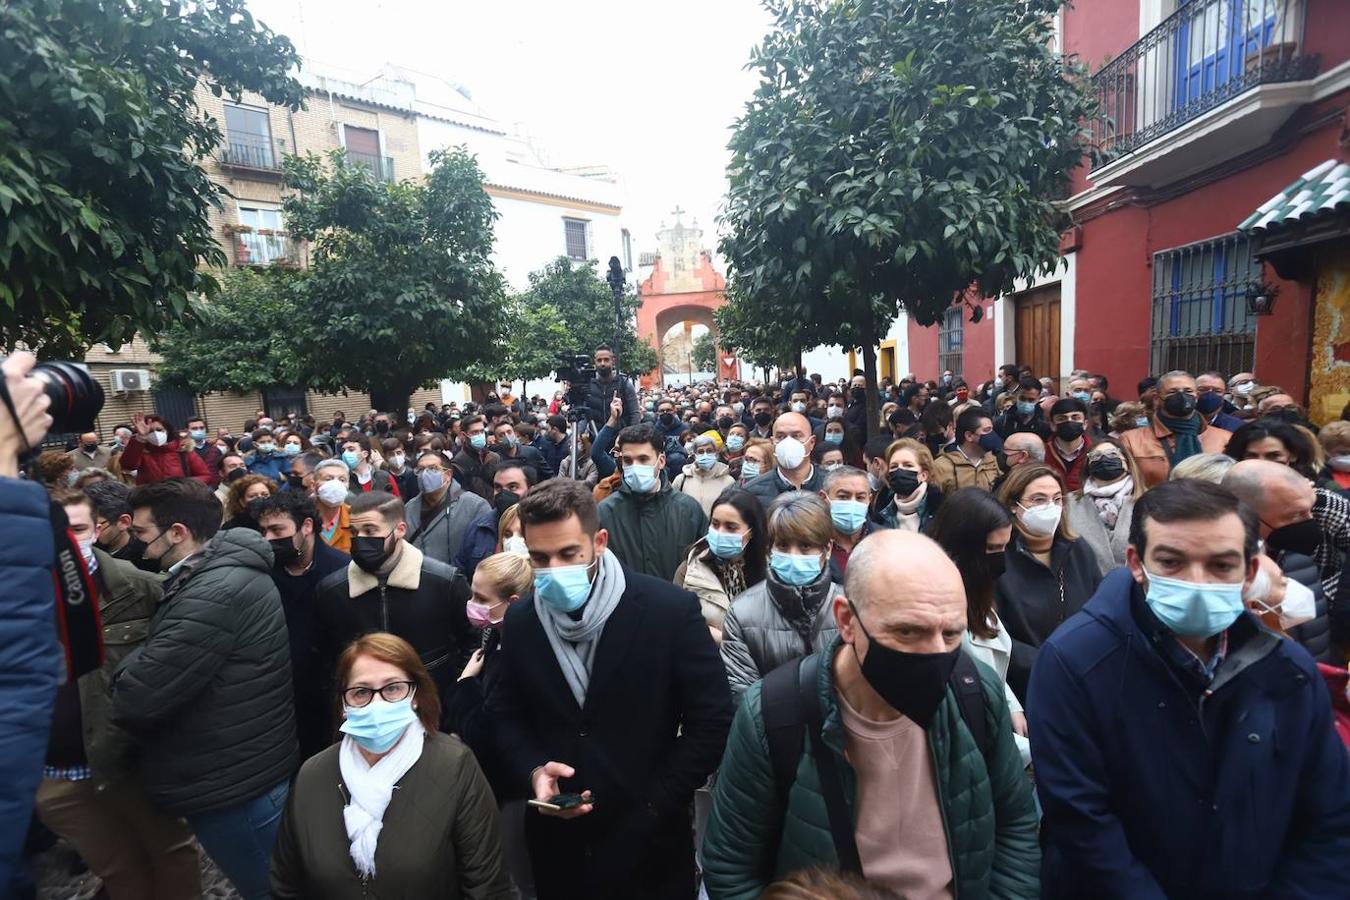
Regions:
[[[290,777],[290,644],[261,534],[220,532],[170,576],[150,637],[113,671],[112,708],[165,812],[234,806]]]

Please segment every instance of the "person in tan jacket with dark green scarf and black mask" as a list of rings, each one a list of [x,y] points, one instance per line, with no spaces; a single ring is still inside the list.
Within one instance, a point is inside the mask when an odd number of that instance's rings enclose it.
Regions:
[[[1196,453],[1219,453],[1231,432],[1210,425],[1196,412],[1197,391],[1189,372],[1168,372],[1157,383],[1158,405],[1148,428],[1120,434],[1120,443],[1134,456],[1145,487],[1166,480],[1168,472]]]

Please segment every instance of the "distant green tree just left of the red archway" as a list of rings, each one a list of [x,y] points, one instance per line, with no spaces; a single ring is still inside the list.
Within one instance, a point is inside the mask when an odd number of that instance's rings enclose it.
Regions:
[[[552,306],[567,325],[567,340],[545,347],[549,354],[576,351],[590,354],[601,344],[614,343],[614,293],[595,273],[595,262],[576,263],[559,256],[529,274],[529,287],[521,294],[529,306]],[[656,368],[656,349],[637,336],[637,291],[629,285],[620,301],[618,367],[629,375]]]

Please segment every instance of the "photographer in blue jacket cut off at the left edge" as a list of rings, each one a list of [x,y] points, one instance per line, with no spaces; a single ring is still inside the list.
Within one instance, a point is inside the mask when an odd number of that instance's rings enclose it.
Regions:
[[[51,426],[50,398],[28,378],[32,354],[4,360],[0,410],[0,896],[16,888],[34,795],[42,780],[62,650],[55,629],[57,552],[50,501],[42,484],[19,479],[19,455]]]

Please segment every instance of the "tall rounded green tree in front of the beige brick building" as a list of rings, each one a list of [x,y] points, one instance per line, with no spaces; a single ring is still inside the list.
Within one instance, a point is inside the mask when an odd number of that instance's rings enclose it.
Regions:
[[[424,385],[500,362],[506,291],[482,181],[463,148],[432,154],[425,182],[374,178],[340,150],[327,166],[286,159],[286,224],[312,250],[292,325],[305,385],[398,410]]]

